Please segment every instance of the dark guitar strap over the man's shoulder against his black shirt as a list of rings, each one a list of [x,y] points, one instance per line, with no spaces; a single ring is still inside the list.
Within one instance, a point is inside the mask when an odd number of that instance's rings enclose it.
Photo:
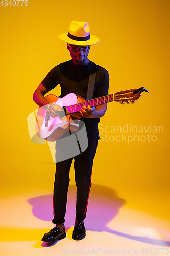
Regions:
[[[86,100],[90,100],[93,97],[95,77],[96,77],[96,65],[94,65],[93,62],[91,62],[91,69],[90,69],[90,76],[89,76],[89,81],[88,81],[88,90],[87,90]]]

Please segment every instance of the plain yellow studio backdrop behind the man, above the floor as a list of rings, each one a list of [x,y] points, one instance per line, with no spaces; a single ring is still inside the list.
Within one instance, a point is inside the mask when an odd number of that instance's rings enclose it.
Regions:
[[[99,142],[92,183],[114,189],[128,207],[169,220],[169,0],[28,3],[0,6],[1,196],[53,190],[50,149],[31,142],[27,116],[37,109],[32,95],[48,71],[70,59],[58,35],[72,20],[85,20],[100,38],[89,59],[108,70],[109,92],[149,90],[133,105],[109,103],[103,129],[163,126],[163,133],[149,132],[155,142]],[[59,95],[59,87],[52,93]]]

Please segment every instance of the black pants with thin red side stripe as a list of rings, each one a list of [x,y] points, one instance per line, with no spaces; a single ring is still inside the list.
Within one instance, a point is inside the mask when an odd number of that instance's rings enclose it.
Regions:
[[[75,181],[77,186],[76,220],[81,222],[86,217],[88,197],[91,187],[91,173],[93,159],[98,141],[89,143],[87,149],[80,155],[75,156]],[[56,163],[56,175],[54,182],[54,224],[65,222],[67,191],[69,185],[69,170],[72,159]]]

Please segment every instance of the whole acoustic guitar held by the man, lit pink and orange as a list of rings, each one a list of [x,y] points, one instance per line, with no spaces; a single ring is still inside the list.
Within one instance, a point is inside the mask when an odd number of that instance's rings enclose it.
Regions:
[[[45,98],[49,102],[54,102],[61,106],[60,115],[55,118],[49,115],[49,111],[43,107],[39,107],[36,118],[36,133],[39,138],[48,141],[56,141],[66,132],[76,132],[79,129],[79,119],[82,117],[79,111],[82,106],[98,106],[112,101],[121,104],[133,104],[140,97],[142,92],[148,92],[147,89],[141,87],[139,89],[131,89],[109,94],[96,99],[86,101],[83,97],[74,93],[69,93],[65,97],[60,98],[55,95],[47,95]]]

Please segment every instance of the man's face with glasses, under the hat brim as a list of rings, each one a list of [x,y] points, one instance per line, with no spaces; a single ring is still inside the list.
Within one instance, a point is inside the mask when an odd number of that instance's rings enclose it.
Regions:
[[[67,49],[69,50],[71,58],[73,59],[73,62],[76,65],[88,64],[87,56],[89,53],[90,46],[77,46],[77,45],[67,44]]]

